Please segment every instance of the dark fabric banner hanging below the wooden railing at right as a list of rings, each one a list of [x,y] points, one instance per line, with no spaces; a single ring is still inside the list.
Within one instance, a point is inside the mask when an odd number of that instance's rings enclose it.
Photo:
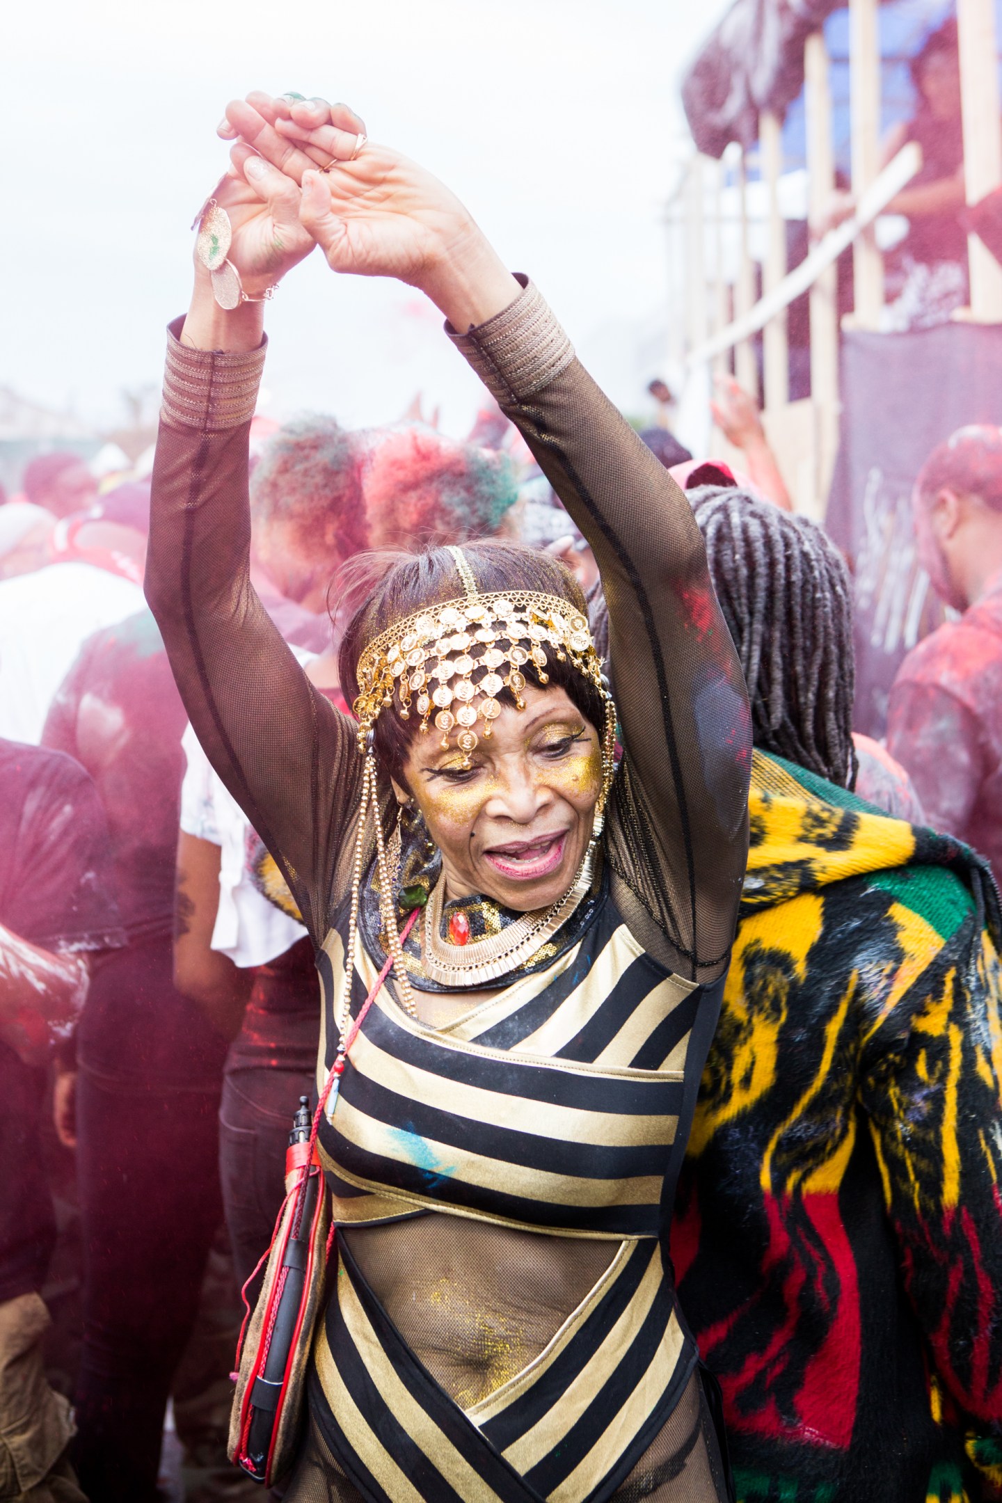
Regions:
[[[955,428],[1002,422],[1002,326],[847,332],[841,400],[826,526],[855,570],[855,729],[879,738],[901,658],[943,619],[915,558],[915,476]]]

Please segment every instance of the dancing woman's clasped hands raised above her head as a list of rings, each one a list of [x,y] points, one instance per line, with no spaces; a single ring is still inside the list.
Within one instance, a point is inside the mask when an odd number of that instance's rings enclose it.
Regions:
[[[218,134],[233,146],[213,198],[230,216],[228,260],[248,298],[275,287],[314,245],[337,272],[421,289],[457,328],[518,295],[460,200],[368,140],[347,105],[254,92],[227,105]]]

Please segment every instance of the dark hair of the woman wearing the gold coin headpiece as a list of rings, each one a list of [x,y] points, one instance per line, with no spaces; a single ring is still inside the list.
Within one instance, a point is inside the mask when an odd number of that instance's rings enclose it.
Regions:
[[[539,595],[556,595],[587,616],[581,588],[559,559],[494,538],[464,543],[463,553],[481,594],[532,591]],[[338,597],[335,616],[347,618],[338,652],[338,675],[349,700],[358,691],[359,658],[374,637],[403,616],[445,600],[458,600],[466,594],[455,559],[445,547],[421,553],[397,550],[359,553],[340,571],[333,589]],[[532,661],[526,663],[521,672],[539,688],[559,685],[566,690],[568,697],[601,735],[604,703],[595,685],[578,673],[569,660],[562,663],[553,649],[547,651],[547,658],[545,685],[539,684]],[[481,676],[478,672],[473,679]],[[509,688],[503,688],[497,699],[503,705],[515,703]],[[404,786],[403,768],[419,724],[416,714],[412,714],[410,720],[403,720],[389,708],[376,721],[376,752],[380,765]]]

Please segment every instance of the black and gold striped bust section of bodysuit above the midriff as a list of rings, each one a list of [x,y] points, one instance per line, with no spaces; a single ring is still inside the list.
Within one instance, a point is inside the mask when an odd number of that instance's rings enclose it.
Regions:
[[[436,1208],[571,1235],[658,1235],[699,995],[638,951],[614,909],[578,950],[589,941],[557,975],[527,977],[511,989],[520,996],[502,993],[452,1028],[425,1028],[380,995],[320,1132],[335,1219]],[[340,935],[326,960],[337,995]],[[361,956],[353,1007],[370,969]],[[329,1007],[324,1031],[333,1037]],[[355,1202],[344,1217],[343,1192]],[[358,1192],[374,1196],[368,1207]]]

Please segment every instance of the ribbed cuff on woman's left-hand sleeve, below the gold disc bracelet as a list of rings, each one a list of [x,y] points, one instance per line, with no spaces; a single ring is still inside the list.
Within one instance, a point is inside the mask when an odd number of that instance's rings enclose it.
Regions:
[[[171,428],[225,433],[249,422],[264,370],[267,340],[257,350],[192,350],[180,343],[183,319],[167,326],[161,421]]]

